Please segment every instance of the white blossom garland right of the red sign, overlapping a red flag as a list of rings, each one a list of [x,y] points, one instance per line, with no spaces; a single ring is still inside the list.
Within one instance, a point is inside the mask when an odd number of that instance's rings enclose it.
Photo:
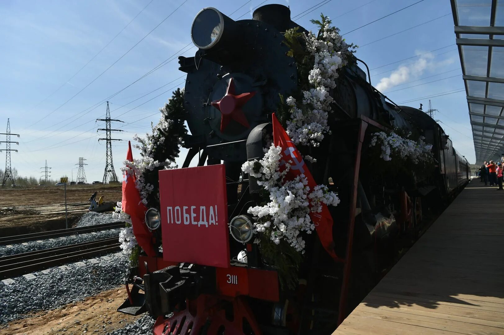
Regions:
[[[250,207],[247,212],[259,219],[259,222],[254,224],[255,232],[266,232],[269,229],[270,239],[275,244],[284,239],[297,251],[304,253],[305,242],[299,233],[305,231],[310,234],[315,229],[310,212],[320,213],[322,203],[336,206],[340,199],[335,193],[329,192],[325,185],[317,185],[310,190],[304,174],[284,181],[290,165],[285,163],[285,170],[280,172],[280,165],[283,163],[281,151],[281,147],[272,145],[263,159],[248,161],[242,165],[243,172],[256,177],[257,183],[269,191],[271,200],[265,206]],[[261,168],[255,172],[257,164],[260,164]]]

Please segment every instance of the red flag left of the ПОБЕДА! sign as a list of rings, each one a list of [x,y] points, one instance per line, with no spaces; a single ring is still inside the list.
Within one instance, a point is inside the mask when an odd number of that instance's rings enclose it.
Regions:
[[[131,142],[128,141],[128,154],[126,160],[133,162],[133,153],[131,152]],[[122,211],[131,216],[133,234],[137,238],[138,245],[148,256],[156,256],[154,245],[152,244],[152,233],[145,224],[145,212],[147,207],[141,202],[140,192],[135,186],[135,173],[126,173],[122,175]]]

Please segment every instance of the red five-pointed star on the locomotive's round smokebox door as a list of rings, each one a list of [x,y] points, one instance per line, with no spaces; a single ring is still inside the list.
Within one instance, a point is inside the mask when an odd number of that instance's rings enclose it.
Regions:
[[[235,120],[245,127],[249,127],[248,120],[241,107],[256,95],[256,92],[248,92],[236,95],[234,81],[231,78],[226,90],[226,94],[220,100],[212,101],[212,106],[221,112],[221,132],[229,124],[231,120]]]

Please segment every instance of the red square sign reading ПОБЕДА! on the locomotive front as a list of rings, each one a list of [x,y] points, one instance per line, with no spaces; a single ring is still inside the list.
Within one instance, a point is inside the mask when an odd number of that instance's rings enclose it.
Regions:
[[[163,259],[229,267],[224,165],[159,171]]]

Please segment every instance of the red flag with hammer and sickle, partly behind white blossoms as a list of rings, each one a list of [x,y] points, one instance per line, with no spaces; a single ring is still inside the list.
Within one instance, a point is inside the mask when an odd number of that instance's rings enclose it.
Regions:
[[[287,172],[285,176],[286,180],[292,180],[300,174],[304,174],[306,179],[308,180],[308,186],[311,190],[317,183],[313,179],[306,163],[304,163],[301,154],[296,149],[296,146],[291,141],[287,132],[282,127],[280,122],[278,121],[275,113],[272,114],[273,118],[273,144],[275,147],[282,147],[282,158],[288,162],[292,161],[290,166],[290,170]],[[322,204],[322,212],[320,213],[310,213],[310,218],[313,221],[317,229],[317,233],[319,235],[320,241],[322,245],[326,249],[326,251],[335,259],[341,260],[334,251],[334,240],[333,240],[333,218],[331,217],[331,213],[329,213],[329,209],[325,204]]]

